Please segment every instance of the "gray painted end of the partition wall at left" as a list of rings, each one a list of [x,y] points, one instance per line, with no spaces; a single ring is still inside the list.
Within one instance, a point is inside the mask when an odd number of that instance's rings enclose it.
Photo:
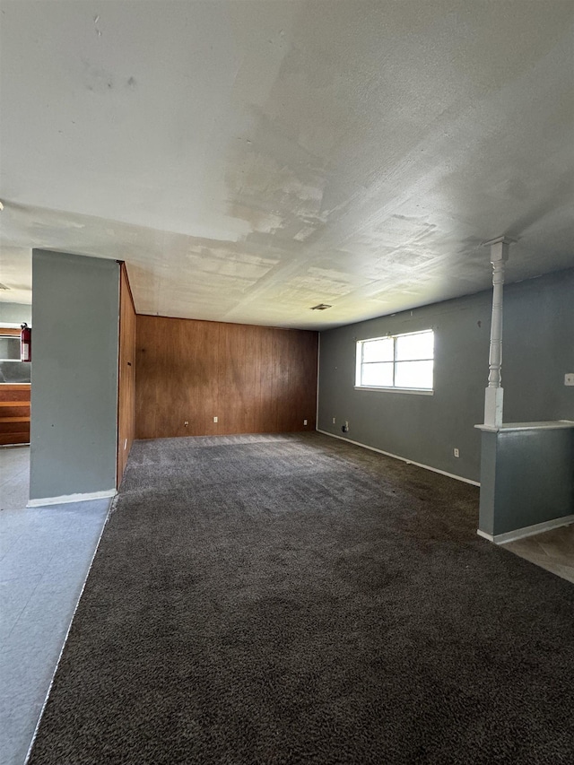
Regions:
[[[30,500],[116,485],[119,266],[32,252]]]

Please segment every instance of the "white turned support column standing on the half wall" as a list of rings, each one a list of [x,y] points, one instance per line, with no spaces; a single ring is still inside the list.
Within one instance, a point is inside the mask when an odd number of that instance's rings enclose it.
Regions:
[[[484,395],[484,424],[499,427],[502,424],[502,400],[500,369],[502,367],[502,289],[504,264],[509,259],[509,246],[514,239],[498,237],[484,242],[491,248],[492,264],[492,321],[491,351],[489,355],[488,387]]]

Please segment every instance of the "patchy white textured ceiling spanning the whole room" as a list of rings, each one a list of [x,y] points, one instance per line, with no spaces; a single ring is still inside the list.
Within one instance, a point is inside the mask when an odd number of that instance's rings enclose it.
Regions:
[[[574,4],[3,0],[0,300],[327,328],[574,265]],[[325,303],[326,311],[310,310]]]

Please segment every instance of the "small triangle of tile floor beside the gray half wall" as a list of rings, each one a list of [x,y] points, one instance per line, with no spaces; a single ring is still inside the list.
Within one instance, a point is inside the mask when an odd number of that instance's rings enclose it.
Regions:
[[[500,546],[574,584],[574,525],[552,528]]]

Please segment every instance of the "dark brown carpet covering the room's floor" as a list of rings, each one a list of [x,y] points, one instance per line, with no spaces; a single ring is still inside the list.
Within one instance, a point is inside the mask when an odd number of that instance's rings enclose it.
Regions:
[[[136,442],[30,765],[571,763],[574,587],[319,434]]]

